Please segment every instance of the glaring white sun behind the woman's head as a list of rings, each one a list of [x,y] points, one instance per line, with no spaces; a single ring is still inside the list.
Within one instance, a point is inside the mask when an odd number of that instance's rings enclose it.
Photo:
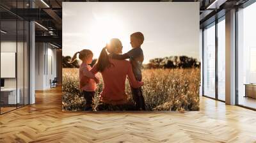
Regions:
[[[127,24],[115,13],[94,13],[93,19],[86,27],[86,45],[93,51],[93,55],[98,57],[102,48],[109,44],[112,38],[118,38],[124,46],[123,52],[129,47],[129,31]]]

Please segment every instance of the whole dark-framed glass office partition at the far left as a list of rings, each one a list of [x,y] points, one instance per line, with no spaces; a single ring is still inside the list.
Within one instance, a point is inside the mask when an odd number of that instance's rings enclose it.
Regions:
[[[28,8],[28,1],[0,4]],[[29,104],[29,22],[0,8],[0,29],[0,114],[3,114]]]

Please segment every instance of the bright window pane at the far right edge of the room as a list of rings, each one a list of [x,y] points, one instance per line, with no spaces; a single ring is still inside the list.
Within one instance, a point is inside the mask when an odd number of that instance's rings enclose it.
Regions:
[[[256,3],[237,12],[237,102],[256,109]]]

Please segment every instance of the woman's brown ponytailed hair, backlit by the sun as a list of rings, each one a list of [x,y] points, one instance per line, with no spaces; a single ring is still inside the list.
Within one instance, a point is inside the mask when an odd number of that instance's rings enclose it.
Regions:
[[[108,52],[113,53],[118,47],[121,47],[121,46],[122,46],[121,41],[117,38],[113,38],[110,40],[109,44],[101,50],[99,59],[95,64],[99,72],[103,72],[105,68],[109,68],[111,65],[113,65],[109,61]]]

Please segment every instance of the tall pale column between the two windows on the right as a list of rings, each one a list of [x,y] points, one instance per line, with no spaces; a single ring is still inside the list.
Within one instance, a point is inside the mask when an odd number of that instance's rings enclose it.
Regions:
[[[236,10],[226,12],[226,103],[236,104]]]

